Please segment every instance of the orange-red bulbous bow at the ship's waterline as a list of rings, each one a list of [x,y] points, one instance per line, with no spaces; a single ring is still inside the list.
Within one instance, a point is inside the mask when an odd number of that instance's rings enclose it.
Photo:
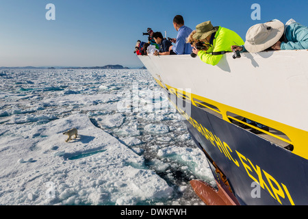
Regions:
[[[227,192],[224,192],[219,183],[217,183],[218,190],[199,179],[190,181],[190,185],[206,205],[239,205],[238,202],[232,200]]]

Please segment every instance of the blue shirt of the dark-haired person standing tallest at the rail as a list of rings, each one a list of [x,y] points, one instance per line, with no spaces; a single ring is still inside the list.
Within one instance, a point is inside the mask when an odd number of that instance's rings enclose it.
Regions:
[[[192,46],[190,43],[186,43],[186,38],[190,36],[192,29],[183,25],[179,28],[177,33],[177,42],[175,46],[172,47],[172,50],[177,53],[177,55],[190,54],[192,53]]]

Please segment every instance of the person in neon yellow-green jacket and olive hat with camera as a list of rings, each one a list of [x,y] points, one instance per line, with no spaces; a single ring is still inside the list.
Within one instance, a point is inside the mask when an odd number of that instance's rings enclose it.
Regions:
[[[244,44],[242,38],[234,31],[220,26],[213,27],[211,21],[196,25],[196,33],[192,38],[198,41],[198,44],[192,48],[192,53],[198,55],[203,62],[213,66],[219,63],[224,53],[232,51],[232,45]],[[205,50],[206,47],[208,47],[207,50]],[[233,58],[238,57],[238,54],[235,53]]]

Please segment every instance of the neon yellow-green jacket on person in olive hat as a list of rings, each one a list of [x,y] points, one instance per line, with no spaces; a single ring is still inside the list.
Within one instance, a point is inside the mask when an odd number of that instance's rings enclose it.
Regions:
[[[244,41],[240,36],[238,36],[238,34],[235,33],[235,31],[224,27],[219,27],[218,31],[216,31],[211,47],[209,47],[207,51],[198,51],[198,56],[203,62],[215,66],[220,61],[222,55],[212,55],[212,52],[231,52],[231,46],[240,46],[242,44],[244,44]]]

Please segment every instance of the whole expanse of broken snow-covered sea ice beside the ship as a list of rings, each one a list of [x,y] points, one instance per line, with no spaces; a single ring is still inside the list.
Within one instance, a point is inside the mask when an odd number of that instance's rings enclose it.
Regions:
[[[0,205],[203,205],[189,181],[214,183],[205,156],[147,70],[0,78]]]

